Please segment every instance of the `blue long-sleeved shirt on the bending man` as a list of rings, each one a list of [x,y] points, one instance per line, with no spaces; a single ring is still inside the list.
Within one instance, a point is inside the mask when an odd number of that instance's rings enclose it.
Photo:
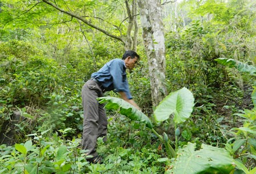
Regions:
[[[125,92],[128,99],[133,99],[125,70],[125,61],[115,58],[102,66],[96,73],[93,73],[91,77],[97,79],[106,91],[115,89],[117,92]]]

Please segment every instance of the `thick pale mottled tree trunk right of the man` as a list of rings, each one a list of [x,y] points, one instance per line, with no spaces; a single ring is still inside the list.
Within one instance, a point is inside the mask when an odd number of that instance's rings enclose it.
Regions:
[[[167,94],[162,7],[160,0],[138,0],[138,5],[150,73],[152,105],[155,107]]]

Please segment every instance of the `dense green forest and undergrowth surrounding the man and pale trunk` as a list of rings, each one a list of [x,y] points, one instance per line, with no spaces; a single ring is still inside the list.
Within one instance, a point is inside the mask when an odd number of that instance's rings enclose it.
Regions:
[[[173,167],[174,159],[167,158],[151,131],[115,111],[108,111],[108,143],[98,141],[104,164],[88,164],[80,149],[82,85],[128,48],[141,56],[128,73],[131,94],[154,122],[152,65],[140,19],[144,1],[138,2],[140,6],[125,0],[0,0],[0,173],[164,173]],[[176,144],[172,118],[156,130],[165,132],[176,150],[188,142],[198,149],[202,143],[225,148],[241,164],[237,173],[252,171],[255,0],[159,5],[166,94],[186,87],[195,106],[188,120],[178,125]],[[251,71],[223,66],[217,58],[230,58]],[[106,95],[118,97],[114,92]]]

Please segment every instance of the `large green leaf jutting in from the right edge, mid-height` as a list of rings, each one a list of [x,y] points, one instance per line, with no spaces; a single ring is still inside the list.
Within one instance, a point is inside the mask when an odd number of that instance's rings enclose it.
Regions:
[[[254,76],[256,75],[255,66],[247,65],[246,63],[242,63],[232,58],[216,58],[215,61],[228,67],[235,67],[238,71],[250,73],[250,75]]]

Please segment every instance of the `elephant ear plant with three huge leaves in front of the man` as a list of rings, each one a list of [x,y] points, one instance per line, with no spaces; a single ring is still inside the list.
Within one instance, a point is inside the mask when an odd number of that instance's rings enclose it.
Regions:
[[[131,120],[137,120],[146,124],[147,128],[151,129],[166,147],[168,157],[175,159],[173,163],[174,167],[168,169],[166,173],[204,173],[222,171],[222,169],[225,169],[224,171],[229,173],[233,170],[233,159],[224,149],[202,145],[202,150],[195,151],[196,144],[188,143],[184,148],[174,150],[169,143],[167,134],[163,133],[163,135],[159,135],[153,128],[154,126],[150,118],[133,107],[133,105],[116,97],[99,97],[98,101],[105,103],[106,109],[114,109]],[[170,116],[173,116],[175,127],[177,128],[178,124],[185,122],[191,116],[193,105],[194,97],[192,92],[183,87],[178,91],[171,92],[160,102],[154,111],[154,118],[156,122],[163,122],[170,118]],[[177,148],[177,133],[175,139],[175,147]],[[195,165],[197,162],[200,165]],[[187,170],[187,168],[190,169]]]

